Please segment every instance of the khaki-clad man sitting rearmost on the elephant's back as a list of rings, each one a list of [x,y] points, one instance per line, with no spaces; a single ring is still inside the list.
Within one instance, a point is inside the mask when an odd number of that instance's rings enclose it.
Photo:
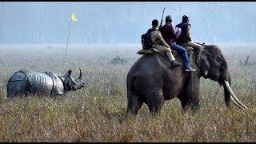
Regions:
[[[158,30],[158,20],[157,19],[154,19],[152,21],[152,26],[153,27],[150,29],[150,31],[151,31],[150,38],[153,42],[152,48],[166,52],[166,55],[170,60],[171,67],[182,66],[181,63],[179,63],[175,60],[174,55],[171,53],[170,46],[162,38],[162,34]]]

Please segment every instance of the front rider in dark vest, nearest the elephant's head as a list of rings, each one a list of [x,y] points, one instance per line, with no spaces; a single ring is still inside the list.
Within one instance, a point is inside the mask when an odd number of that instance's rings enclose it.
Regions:
[[[189,17],[183,15],[182,22],[175,27],[181,28],[182,32],[180,36],[177,38],[177,43],[180,46],[191,46],[194,50],[198,53],[202,52],[202,46],[198,45],[197,43],[193,42],[191,38],[191,25],[189,23]]]

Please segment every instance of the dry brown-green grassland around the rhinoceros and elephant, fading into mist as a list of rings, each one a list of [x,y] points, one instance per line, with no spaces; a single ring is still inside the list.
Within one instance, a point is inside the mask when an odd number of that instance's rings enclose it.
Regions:
[[[152,117],[145,104],[137,117],[126,115],[126,74],[140,57],[140,46],[70,45],[63,66],[64,46],[0,46],[0,142],[255,142],[256,65],[238,60],[256,57],[255,46],[221,46],[228,62],[232,87],[249,108],[224,105],[223,88],[201,79],[201,108],[183,113],[177,98],[166,101]],[[110,65],[116,55],[127,58]],[[256,61],[256,60],[255,60]],[[58,98],[6,97],[6,83],[15,71],[73,70],[82,68],[86,87]]]

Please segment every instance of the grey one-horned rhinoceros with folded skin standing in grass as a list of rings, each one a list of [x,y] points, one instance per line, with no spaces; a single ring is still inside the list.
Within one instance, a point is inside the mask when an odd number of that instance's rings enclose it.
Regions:
[[[19,70],[15,72],[7,83],[7,98],[21,95],[62,95],[69,90],[78,90],[85,86],[82,82],[82,72],[74,80],[71,76],[72,70],[66,74],[50,72],[34,72]]]

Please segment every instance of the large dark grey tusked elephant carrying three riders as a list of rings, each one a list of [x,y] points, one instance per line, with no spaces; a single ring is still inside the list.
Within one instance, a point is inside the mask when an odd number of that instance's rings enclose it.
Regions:
[[[174,51],[175,53],[175,51]],[[182,63],[182,58],[174,54]],[[162,54],[144,54],[131,66],[126,77],[127,113],[138,114],[145,102],[150,113],[157,113],[165,100],[178,98],[182,109],[199,109],[200,78],[210,78],[224,86],[226,107],[230,99],[242,110],[248,110],[235,96],[231,89],[228,66],[221,50],[216,45],[203,46],[202,52],[189,52],[194,72],[186,72],[182,66],[171,67],[170,61]]]

